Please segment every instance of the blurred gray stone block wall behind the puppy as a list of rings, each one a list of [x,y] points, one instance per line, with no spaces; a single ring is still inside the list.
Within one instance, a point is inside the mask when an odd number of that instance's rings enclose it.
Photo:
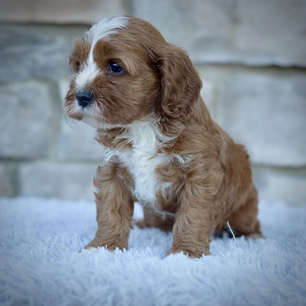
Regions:
[[[306,203],[306,1],[0,0],[0,195],[93,198],[103,148],[65,120],[73,39],[127,14],[183,46],[260,197]]]

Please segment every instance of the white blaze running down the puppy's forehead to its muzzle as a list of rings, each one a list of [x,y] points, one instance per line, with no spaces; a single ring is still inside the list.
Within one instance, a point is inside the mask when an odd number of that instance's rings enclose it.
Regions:
[[[81,67],[81,72],[75,78],[75,85],[79,90],[83,89],[99,73],[99,68],[93,59],[93,49],[97,41],[101,38],[108,38],[118,30],[126,28],[129,23],[129,17],[114,16],[95,23],[90,30],[85,33],[91,42],[91,48],[87,63]]]

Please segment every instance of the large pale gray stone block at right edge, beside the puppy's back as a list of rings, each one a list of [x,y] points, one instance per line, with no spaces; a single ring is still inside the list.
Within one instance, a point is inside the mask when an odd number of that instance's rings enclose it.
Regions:
[[[253,163],[306,165],[306,75],[228,74],[217,113]]]

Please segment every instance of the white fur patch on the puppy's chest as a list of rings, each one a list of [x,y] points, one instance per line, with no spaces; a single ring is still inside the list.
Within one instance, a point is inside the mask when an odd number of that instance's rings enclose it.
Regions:
[[[171,157],[157,154],[163,141],[167,141],[154,123],[141,121],[129,127],[126,135],[122,136],[133,145],[133,149],[125,151],[108,151],[106,157],[118,156],[134,177],[134,195],[144,205],[155,205],[156,193],[169,187],[161,183],[156,168],[166,164]]]

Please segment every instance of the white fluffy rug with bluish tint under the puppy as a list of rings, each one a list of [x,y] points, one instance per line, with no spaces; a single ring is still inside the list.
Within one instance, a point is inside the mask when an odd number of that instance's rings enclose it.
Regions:
[[[136,215],[141,214],[136,207]],[[171,233],[135,228],[127,251],[78,251],[92,202],[0,199],[1,305],[305,305],[306,207],[261,203],[266,239],[216,239],[165,257]]]

